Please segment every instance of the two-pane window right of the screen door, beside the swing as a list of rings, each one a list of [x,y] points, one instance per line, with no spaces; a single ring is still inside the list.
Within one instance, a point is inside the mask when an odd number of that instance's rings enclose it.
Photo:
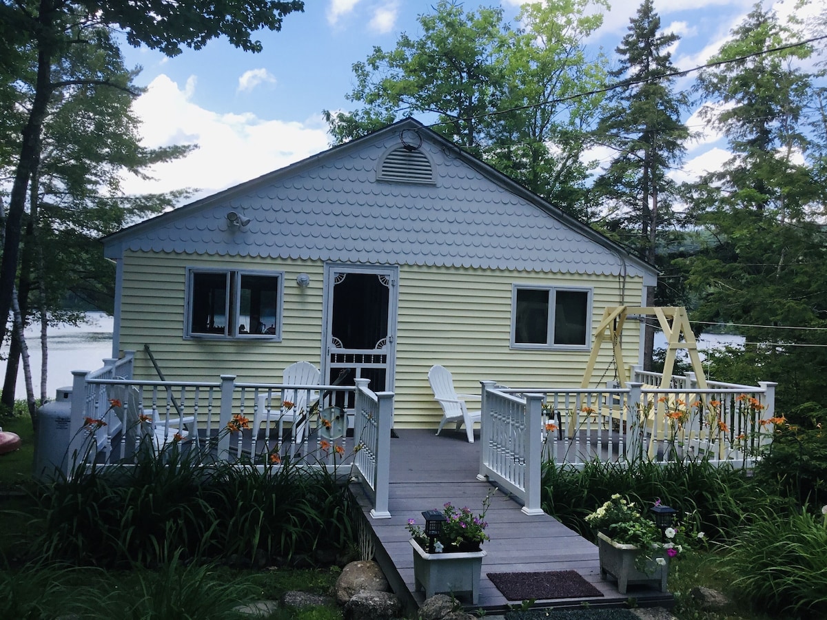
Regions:
[[[514,284],[512,348],[588,350],[590,325],[591,289]]]

